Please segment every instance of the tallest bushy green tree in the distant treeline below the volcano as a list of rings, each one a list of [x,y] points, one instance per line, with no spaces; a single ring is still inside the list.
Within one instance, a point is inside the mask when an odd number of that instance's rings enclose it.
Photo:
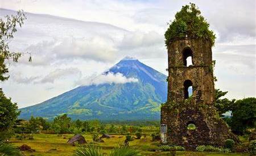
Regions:
[[[60,115],[55,117],[52,123],[52,129],[55,131],[55,133],[70,133],[71,130],[69,129],[71,127],[71,118],[68,117],[67,114]]]

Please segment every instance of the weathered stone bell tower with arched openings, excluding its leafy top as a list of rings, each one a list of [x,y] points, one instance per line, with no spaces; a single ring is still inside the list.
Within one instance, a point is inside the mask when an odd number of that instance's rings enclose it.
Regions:
[[[210,41],[173,39],[168,49],[168,99],[161,108],[163,143],[193,150],[198,145],[222,146],[233,138],[214,107]],[[188,58],[191,65],[188,65]]]

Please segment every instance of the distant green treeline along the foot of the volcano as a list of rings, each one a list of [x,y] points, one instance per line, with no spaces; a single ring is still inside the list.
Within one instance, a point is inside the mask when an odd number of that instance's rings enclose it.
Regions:
[[[19,119],[14,126],[15,133],[112,133],[134,134],[159,132],[159,121],[99,121],[72,120],[67,114],[48,121],[31,116],[30,120]]]

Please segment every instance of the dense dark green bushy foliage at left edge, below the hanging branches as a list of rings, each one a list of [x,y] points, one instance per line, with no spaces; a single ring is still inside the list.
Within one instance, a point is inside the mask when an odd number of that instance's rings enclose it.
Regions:
[[[10,98],[6,98],[0,88],[0,141],[13,135],[13,126],[19,115],[18,106],[12,103]]]

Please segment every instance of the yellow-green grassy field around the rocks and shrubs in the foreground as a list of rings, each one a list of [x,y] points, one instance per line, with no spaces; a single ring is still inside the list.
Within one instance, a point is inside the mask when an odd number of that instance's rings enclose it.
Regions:
[[[35,152],[25,151],[24,155],[72,155],[73,151],[76,150],[77,146],[72,146],[66,144],[68,138],[72,137],[73,134],[34,134],[34,140],[17,140],[12,138],[10,140],[15,146],[21,146],[27,144],[31,146]],[[83,135],[88,143],[92,143],[92,137],[90,134]],[[110,149],[113,149],[118,144],[123,144],[125,136],[115,135],[114,138],[104,138],[105,142],[96,143],[104,149],[105,153],[109,153]],[[140,140],[130,141],[130,146],[135,146],[137,149],[141,150],[142,155],[168,155],[169,152],[151,152],[147,151],[148,146],[157,144],[157,142],[152,142],[151,137],[141,138]],[[249,155],[243,153],[230,153],[230,154],[220,154],[220,153],[203,153],[203,152],[188,152],[188,151],[177,151],[176,155]]]

